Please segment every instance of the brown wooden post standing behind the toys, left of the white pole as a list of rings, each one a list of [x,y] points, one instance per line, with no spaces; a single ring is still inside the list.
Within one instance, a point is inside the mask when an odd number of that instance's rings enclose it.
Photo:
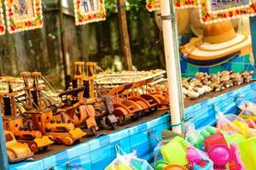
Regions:
[[[125,57],[125,69],[128,71],[132,71],[131,48],[125,14],[125,0],[117,0],[117,7],[119,12],[119,32]]]

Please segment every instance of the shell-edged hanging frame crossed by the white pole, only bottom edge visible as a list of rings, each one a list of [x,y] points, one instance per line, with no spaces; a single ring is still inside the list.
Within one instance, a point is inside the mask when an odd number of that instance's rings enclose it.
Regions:
[[[196,8],[197,0],[174,0],[175,8]],[[147,0],[146,8],[149,12],[160,9],[160,0]]]

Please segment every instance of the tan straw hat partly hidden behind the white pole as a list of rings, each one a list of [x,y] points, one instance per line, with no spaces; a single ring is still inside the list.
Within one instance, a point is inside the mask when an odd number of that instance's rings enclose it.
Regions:
[[[177,33],[183,34],[189,32],[189,8],[178,8],[175,10],[177,17]],[[160,20],[160,11],[155,12],[154,18],[156,20],[158,28],[162,29],[162,22]]]

